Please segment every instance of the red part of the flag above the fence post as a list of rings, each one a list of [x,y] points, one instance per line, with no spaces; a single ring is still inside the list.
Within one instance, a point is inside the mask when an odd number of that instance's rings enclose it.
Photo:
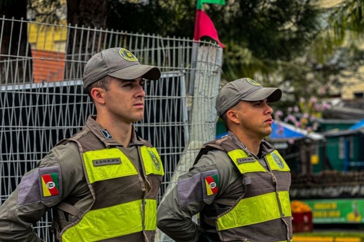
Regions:
[[[219,37],[217,36],[217,31],[210,17],[207,16],[207,14],[203,12],[201,9],[197,9],[195,33],[193,38],[194,40],[199,40],[202,36],[209,36],[213,38],[218,42],[221,48],[225,48],[225,46],[219,41]]]

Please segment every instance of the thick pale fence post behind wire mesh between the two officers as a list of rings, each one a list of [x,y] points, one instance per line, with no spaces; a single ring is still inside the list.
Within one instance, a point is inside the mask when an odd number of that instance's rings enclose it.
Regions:
[[[174,188],[178,177],[189,171],[189,168],[193,165],[195,157],[202,145],[213,140],[215,137],[217,119],[215,102],[219,91],[221,66],[221,48],[210,46],[200,46],[198,48],[193,86],[194,96],[192,97],[192,109],[190,112],[190,140],[174,170],[170,184],[161,201],[163,201],[165,196]],[[211,69],[214,69],[214,71],[211,71]],[[167,241],[167,239],[165,234],[157,231],[156,242]]]

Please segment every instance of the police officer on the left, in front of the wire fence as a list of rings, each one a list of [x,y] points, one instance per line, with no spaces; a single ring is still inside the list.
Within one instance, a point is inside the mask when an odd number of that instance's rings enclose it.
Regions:
[[[59,241],[154,241],[163,167],[132,122],[143,119],[143,78],[160,77],[123,48],[87,62],[83,85],[97,116],[25,173],[0,208],[1,242],[41,241],[31,226],[50,208]]]

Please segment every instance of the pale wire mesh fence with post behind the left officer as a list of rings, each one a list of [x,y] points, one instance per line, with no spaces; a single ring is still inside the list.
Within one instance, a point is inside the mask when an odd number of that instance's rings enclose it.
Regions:
[[[145,118],[135,124],[164,164],[159,201],[214,138],[222,64],[215,44],[5,18],[0,25],[0,205],[25,172],[95,114],[82,75],[102,49],[127,48],[142,64],[161,68],[161,79],[145,83]],[[50,222],[46,214],[34,225],[44,241],[54,240]],[[170,241],[157,234],[157,241]]]

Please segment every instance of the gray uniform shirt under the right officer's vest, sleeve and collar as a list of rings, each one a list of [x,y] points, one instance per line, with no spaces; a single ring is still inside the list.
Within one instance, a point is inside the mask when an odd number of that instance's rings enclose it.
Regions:
[[[228,135],[245,152],[250,153],[232,132],[229,132]],[[273,151],[274,147],[263,140],[261,157]],[[264,158],[259,160],[265,167],[268,167]],[[204,174],[209,176],[215,174],[216,170],[219,176],[218,192],[205,196]],[[227,198],[236,202],[244,195],[244,192],[243,177],[227,153],[217,149],[209,151],[206,155],[201,156],[198,163],[188,173],[178,178],[177,185],[158,208],[157,227],[177,242],[195,242],[198,240],[201,230],[191,218],[216,198]]]

